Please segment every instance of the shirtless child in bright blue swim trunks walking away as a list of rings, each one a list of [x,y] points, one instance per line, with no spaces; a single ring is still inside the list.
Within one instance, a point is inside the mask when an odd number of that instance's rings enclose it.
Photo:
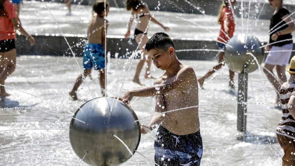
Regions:
[[[88,42],[83,51],[83,75],[80,74],[76,79],[75,85],[69,93],[73,100],[78,100],[76,91],[86,78],[91,73],[91,68],[98,70],[100,75],[101,93],[105,92],[105,28],[104,28],[104,0],[98,0],[93,5],[94,15],[88,27]],[[109,3],[106,1],[106,16],[109,13]],[[106,29],[108,21],[106,21]],[[84,76],[84,78],[83,78]]]

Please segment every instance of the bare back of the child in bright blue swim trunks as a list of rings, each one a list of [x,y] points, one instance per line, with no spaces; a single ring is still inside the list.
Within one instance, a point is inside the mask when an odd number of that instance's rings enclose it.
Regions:
[[[104,18],[99,16],[92,17],[87,33],[88,42],[93,44],[102,44],[102,33],[104,33]]]

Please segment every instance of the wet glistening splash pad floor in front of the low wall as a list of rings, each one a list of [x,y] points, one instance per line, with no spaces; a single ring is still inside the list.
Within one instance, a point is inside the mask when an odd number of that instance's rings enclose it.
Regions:
[[[81,66],[82,59],[78,58],[77,61]],[[115,93],[124,62],[125,59],[110,60],[107,73],[107,91],[110,96]],[[134,60],[132,63],[120,96],[129,90],[129,87],[140,87],[131,81],[137,62],[138,60]],[[217,63],[209,61],[181,62],[192,65],[198,78]],[[163,71],[152,66],[153,76],[160,76],[162,73]],[[80,70],[73,57],[17,57],[17,69],[6,81],[6,86],[14,88],[6,88],[6,91],[11,93],[12,96],[0,102],[1,108],[6,108],[0,110],[0,130],[68,129],[71,119],[65,118],[59,122],[58,119],[62,118],[63,115],[50,111],[70,115],[57,106],[63,106],[74,113],[77,107],[84,103],[84,101],[69,100],[68,96],[78,74],[80,74]],[[235,76],[235,83],[237,84],[237,74]],[[92,98],[86,85],[89,86],[93,97],[99,96],[95,71],[92,72],[92,78],[93,80],[87,78],[84,85],[79,88],[78,97],[80,99],[88,101]],[[124,74],[123,78],[125,78]],[[222,68],[218,71],[218,74],[209,78],[204,84],[204,89],[199,89],[199,104],[236,102],[236,96],[230,94],[227,88],[227,78],[227,67]],[[141,80],[143,80],[143,73]],[[143,80],[146,85],[151,85],[151,81]],[[122,83],[122,81],[120,82]],[[249,74],[248,87],[249,103],[269,104],[274,99],[275,91],[264,74],[261,76],[259,71]],[[132,101],[132,108],[140,119],[153,113],[154,98],[135,99]],[[232,103],[201,106],[199,108],[201,136],[204,145],[201,165],[280,165],[283,150],[278,143],[259,144],[259,141],[240,142],[237,140],[239,133],[236,130],[236,105]],[[254,139],[257,137],[273,138],[276,136],[275,129],[280,117],[281,110],[279,109],[249,104],[248,132],[256,135]],[[147,124],[149,120],[150,118],[141,122]],[[152,160],[155,133],[156,130],[147,135],[142,135],[138,147],[139,152]],[[140,165],[153,165],[137,153],[135,153],[134,159]],[[78,165],[78,160],[70,147],[67,130],[18,130],[1,132],[0,134],[0,165]],[[85,165],[83,162],[80,164]],[[124,166],[129,165],[135,164],[132,160],[124,163]]]

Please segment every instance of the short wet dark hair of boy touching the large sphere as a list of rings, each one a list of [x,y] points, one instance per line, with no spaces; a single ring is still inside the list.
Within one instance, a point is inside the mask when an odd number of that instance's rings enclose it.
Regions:
[[[149,52],[152,49],[168,50],[169,47],[174,48],[173,40],[164,32],[155,33],[145,45],[145,50]]]

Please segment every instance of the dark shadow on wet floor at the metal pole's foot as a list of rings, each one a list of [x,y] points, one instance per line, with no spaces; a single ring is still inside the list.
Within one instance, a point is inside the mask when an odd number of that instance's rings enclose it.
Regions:
[[[246,132],[242,136],[237,137],[237,140],[252,143],[252,144],[278,143],[278,139],[276,137],[272,137],[269,135],[256,135],[256,134],[251,134],[250,132]]]

